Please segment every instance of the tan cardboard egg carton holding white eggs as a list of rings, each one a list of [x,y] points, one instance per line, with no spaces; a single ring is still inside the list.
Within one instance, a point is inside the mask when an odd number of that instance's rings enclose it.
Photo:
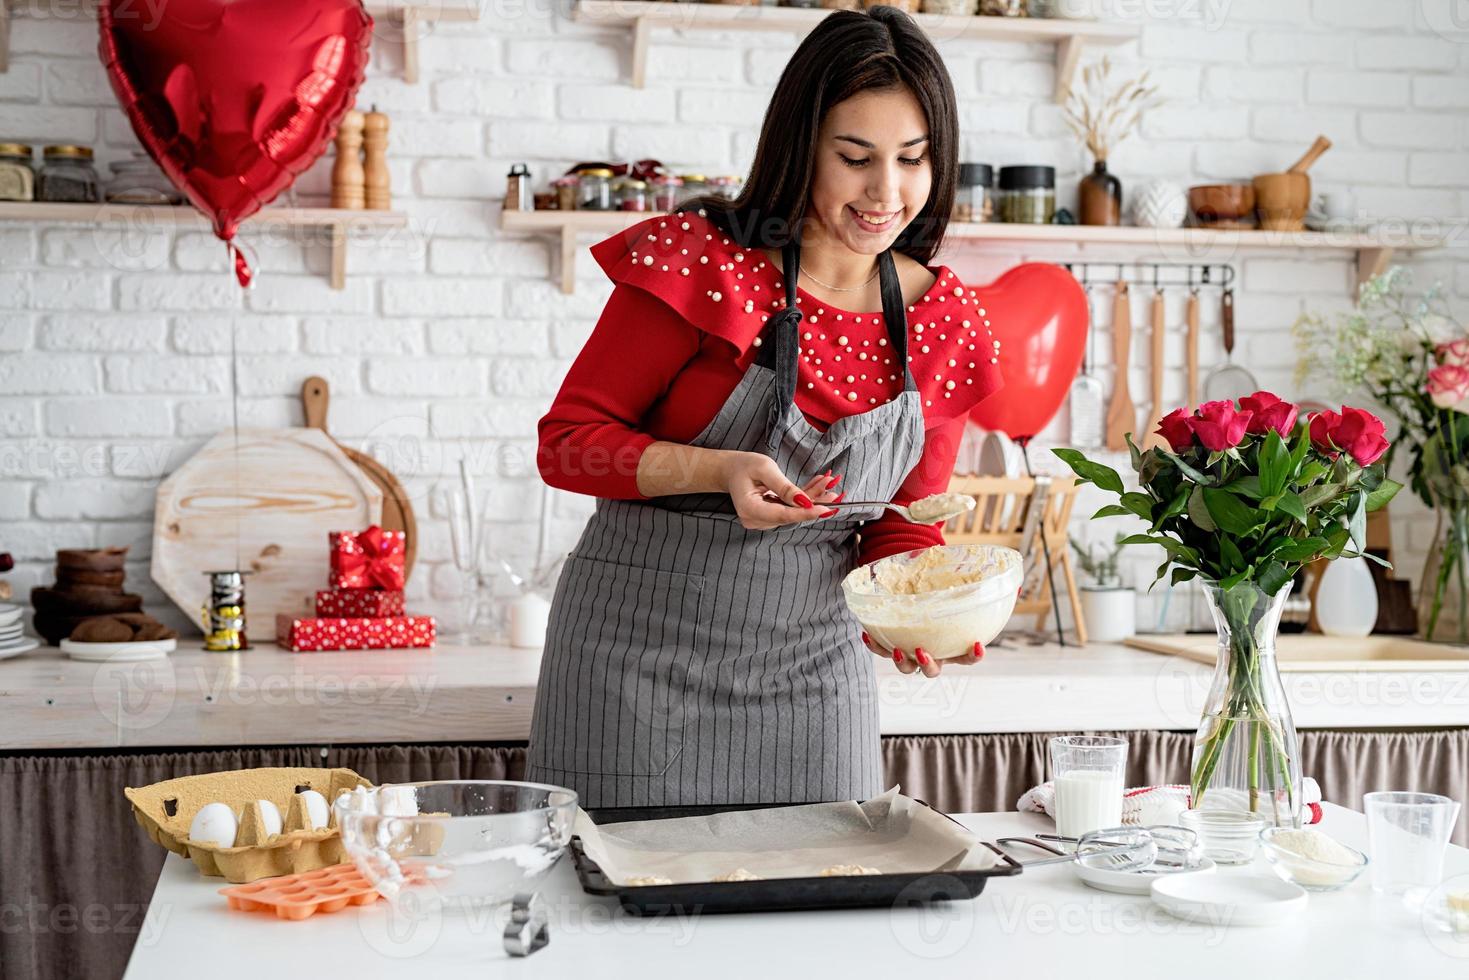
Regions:
[[[372,783],[350,768],[241,768],[179,776],[122,792],[151,840],[187,857],[203,874],[244,884],[347,861],[335,811],[329,808],[326,826],[313,830],[306,799],[298,793],[314,789],[331,804],[357,786],[370,788]],[[284,814],[281,833],[266,832],[261,799],[273,802]],[[194,814],[212,802],[241,814],[232,848],[190,840]]]

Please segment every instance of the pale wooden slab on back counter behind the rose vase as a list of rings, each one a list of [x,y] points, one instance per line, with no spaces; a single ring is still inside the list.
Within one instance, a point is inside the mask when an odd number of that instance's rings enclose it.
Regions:
[[[1128,646],[1213,666],[1213,633],[1137,635]],[[1282,633],[1275,639],[1281,671],[1306,670],[1469,670],[1469,646],[1428,644],[1407,636],[1322,636]]]

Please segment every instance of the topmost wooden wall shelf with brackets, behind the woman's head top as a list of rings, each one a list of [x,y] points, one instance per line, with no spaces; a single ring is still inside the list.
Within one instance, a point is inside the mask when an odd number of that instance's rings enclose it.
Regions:
[[[648,40],[654,28],[680,31],[780,31],[808,34],[831,10],[770,7],[736,3],[670,3],[668,0],[577,0],[573,21],[620,26],[633,32],[632,84],[648,81]],[[914,21],[930,37],[945,41],[1047,43],[1056,46],[1056,101],[1071,91],[1081,53],[1087,47],[1115,47],[1136,41],[1141,28],[1105,21],[1047,18],[984,18],[915,13]]]

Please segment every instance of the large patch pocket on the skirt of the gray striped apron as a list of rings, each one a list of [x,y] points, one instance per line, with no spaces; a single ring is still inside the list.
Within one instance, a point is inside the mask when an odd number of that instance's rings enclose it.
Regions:
[[[708,627],[704,579],[570,555],[546,633],[554,658],[538,764],[658,776],[683,749]],[[539,705],[538,705],[539,707]]]

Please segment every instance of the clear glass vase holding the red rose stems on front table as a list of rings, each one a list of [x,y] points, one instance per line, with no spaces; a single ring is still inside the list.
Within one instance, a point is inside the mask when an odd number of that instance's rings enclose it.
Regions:
[[[1302,826],[1300,743],[1275,660],[1290,585],[1266,595],[1253,582],[1224,591],[1205,582],[1219,635],[1190,767],[1194,810],[1256,813],[1268,824]]]

